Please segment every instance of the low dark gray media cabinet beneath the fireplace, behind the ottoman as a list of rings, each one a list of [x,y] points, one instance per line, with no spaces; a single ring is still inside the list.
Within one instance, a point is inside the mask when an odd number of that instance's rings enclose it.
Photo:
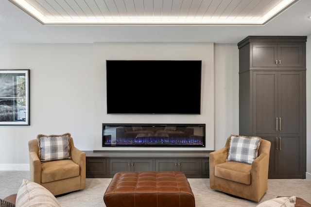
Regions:
[[[87,178],[118,172],[179,171],[187,178],[209,178],[212,151],[84,151]]]

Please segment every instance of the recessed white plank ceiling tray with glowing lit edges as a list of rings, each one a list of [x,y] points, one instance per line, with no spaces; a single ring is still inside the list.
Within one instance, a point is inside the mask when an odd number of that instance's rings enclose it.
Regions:
[[[9,1],[42,24],[261,25],[298,0]]]

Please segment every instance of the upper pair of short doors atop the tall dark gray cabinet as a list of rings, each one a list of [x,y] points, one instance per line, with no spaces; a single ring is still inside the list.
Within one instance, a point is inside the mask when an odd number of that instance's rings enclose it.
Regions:
[[[303,44],[253,44],[253,68],[304,67]]]

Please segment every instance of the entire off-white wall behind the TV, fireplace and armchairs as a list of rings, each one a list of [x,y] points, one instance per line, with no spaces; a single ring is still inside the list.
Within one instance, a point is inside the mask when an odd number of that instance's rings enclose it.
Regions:
[[[311,43],[307,42],[307,68],[311,65],[310,55]],[[239,133],[238,57],[235,44],[2,44],[0,69],[31,69],[31,125],[0,126],[0,170],[29,170],[28,141],[38,134],[69,132],[79,149],[102,150],[103,122],[206,123],[208,147],[202,150],[220,149],[230,134]],[[107,115],[106,59],[202,59],[202,115]],[[311,80],[308,70],[307,80]],[[308,149],[310,88],[307,81]],[[307,172],[310,175],[308,150]]]

